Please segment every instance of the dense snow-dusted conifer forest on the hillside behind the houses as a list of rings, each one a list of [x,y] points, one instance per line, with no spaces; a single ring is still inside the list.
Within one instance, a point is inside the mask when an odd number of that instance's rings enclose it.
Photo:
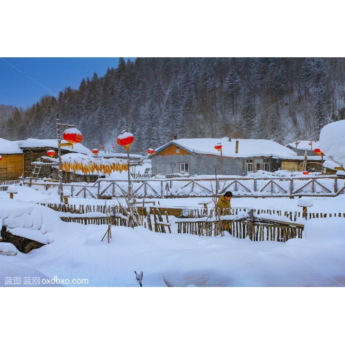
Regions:
[[[130,152],[144,155],[175,136],[317,140],[324,125],[345,119],[344,72],[344,58],[329,57],[121,58],[78,90],[28,109],[0,105],[0,137],[56,138],[59,113],[90,149],[112,150],[128,124]]]

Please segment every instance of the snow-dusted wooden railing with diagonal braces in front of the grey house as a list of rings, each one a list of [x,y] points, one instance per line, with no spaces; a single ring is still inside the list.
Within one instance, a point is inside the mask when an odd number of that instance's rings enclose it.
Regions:
[[[132,179],[132,193],[136,198],[213,197],[232,191],[237,197],[335,197],[345,191],[345,179],[337,175],[313,177],[222,177]],[[43,184],[45,188],[50,182]],[[56,184],[52,183],[52,186]],[[63,184],[71,197],[101,199],[125,197],[128,180],[98,179],[86,182]]]

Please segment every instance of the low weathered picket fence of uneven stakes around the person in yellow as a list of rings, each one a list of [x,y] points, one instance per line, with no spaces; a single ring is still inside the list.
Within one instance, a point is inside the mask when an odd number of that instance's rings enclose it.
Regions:
[[[42,204],[61,213],[63,221],[81,224],[112,224],[131,226],[130,216],[119,205],[68,205]],[[171,233],[172,224],[177,226],[177,233],[199,236],[223,236],[227,231],[239,239],[249,237],[252,241],[286,242],[292,238],[302,238],[305,221],[313,218],[345,217],[345,213],[315,213],[302,211],[231,208],[229,215],[216,215],[213,208],[188,208],[188,212],[179,209],[179,216],[172,213],[169,219],[168,209],[157,206],[137,207],[141,224],[157,233]],[[177,208],[174,208],[177,210]],[[184,209],[186,210],[186,209]],[[90,213],[94,213],[90,215]],[[95,215],[99,213],[99,215]],[[89,215],[88,215],[89,214]],[[165,219],[164,219],[165,218]]]

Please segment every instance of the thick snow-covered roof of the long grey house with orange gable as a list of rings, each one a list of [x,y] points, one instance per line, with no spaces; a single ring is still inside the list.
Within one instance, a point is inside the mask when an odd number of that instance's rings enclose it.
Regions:
[[[236,141],[239,141],[238,153],[235,153]],[[221,144],[221,154],[224,157],[297,157],[297,153],[290,148],[286,148],[272,140],[266,139],[231,139],[228,137],[221,139],[214,138],[198,138],[198,139],[177,139],[169,141],[168,144],[161,146],[155,150],[159,152],[169,146],[175,144],[184,150],[205,155],[220,155],[220,151],[215,149],[215,145]]]

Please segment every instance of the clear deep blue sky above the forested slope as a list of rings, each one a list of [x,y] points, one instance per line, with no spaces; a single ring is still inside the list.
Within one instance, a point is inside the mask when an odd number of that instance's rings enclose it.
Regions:
[[[135,58],[124,58],[134,61]],[[0,57],[0,104],[27,108],[43,95],[57,97],[97,72],[117,68],[119,57]]]

